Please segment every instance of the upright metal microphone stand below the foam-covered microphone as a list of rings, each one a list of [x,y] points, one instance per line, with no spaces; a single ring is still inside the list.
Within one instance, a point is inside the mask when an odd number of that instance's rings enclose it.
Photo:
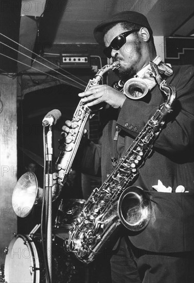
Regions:
[[[52,282],[52,131],[51,126],[46,134],[46,173],[45,173],[45,196],[46,196],[46,255],[50,282]],[[47,282],[48,283],[48,282]]]

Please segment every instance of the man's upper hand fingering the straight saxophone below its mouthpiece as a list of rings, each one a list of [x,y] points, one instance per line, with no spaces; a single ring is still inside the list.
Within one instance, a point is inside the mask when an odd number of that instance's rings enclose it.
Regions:
[[[126,100],[125,94],[106,84],[94,85],[86,92],[79,93],[79,97],[81,97],[81,101],[86,103],[88,107],[107,102],[113,108],[121,108]]]

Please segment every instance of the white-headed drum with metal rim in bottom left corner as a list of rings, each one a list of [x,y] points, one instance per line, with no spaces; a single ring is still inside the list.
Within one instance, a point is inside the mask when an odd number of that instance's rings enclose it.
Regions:
[[[5,259],[5,281],[8,283],[41,282],[41,244],[28,235],[16,235],[10,242]]]

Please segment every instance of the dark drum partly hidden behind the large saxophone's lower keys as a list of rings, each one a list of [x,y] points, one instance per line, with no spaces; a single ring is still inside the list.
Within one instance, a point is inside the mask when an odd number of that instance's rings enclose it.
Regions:
[[[81,213],[84,204],[85,200],[82,199],[62,199],[57,210],[55,228],[68,227],[72,224]]]

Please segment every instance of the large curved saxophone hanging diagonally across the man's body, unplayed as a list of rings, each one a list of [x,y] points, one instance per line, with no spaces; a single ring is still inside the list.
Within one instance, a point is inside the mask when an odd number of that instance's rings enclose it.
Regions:
[[[160,105],[146,126],[121,156],[107,180],[95,188],[81,213],[69,229],[65,249],[85,263],[93,261],[119,224],[131,231],[140,231],[149,223],[151,202],[142,188],[132,186],[172,111],[175,87],[162,80],[155,63],[150,62],[153,75],[167,101]],[[129,187],[130,185],[130,187]]]

